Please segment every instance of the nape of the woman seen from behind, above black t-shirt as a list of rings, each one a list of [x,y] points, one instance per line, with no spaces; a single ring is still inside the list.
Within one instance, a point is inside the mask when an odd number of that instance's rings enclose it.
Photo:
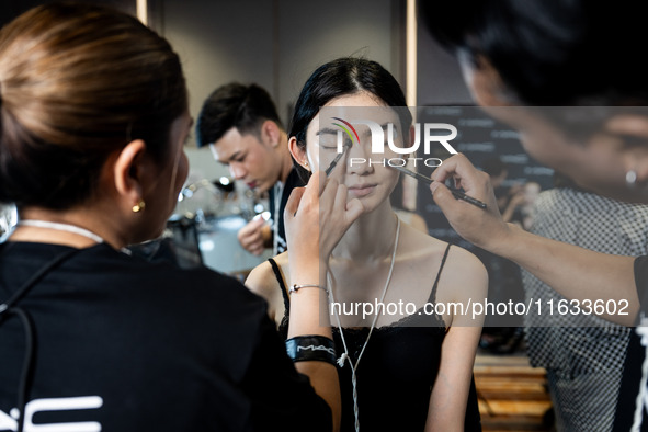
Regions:
[[[110,213],[107,213],[110,214]],[[92,212],[87,208],[73,208],[67,211],[53,211],[41,207],[27,207],[20,212],[20,220],[38,220],[46,223],[62,224],[90,231],[104,242],[115,249],[123,248],[127,240],[122,238],[118,230],[112,224],[104,220],[105,212]],[[88,248],[96,245],[98,239],[90,238],[82,234],[65,229],[57,229],[55,226],[20,225],[9,238],[9,241],[29,241],[54,245],[65,245],[75,248]]]

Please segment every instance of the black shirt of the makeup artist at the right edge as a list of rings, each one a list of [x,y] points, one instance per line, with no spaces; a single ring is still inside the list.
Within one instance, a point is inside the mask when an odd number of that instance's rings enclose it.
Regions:
[[[646,361],[646,346],[648,345],[648,257],[639,257],[635,260],[635,282],[639,296],[640,311],[637,328],[630,333],[628,352],[623,370],[618,402],[614,417],[614,432],[628,432],[635,423],[637,399],[641,387],[646,396],[639,401],[641,427],[640,431],[648,432],[648,388],[646,376],[643,374]]]

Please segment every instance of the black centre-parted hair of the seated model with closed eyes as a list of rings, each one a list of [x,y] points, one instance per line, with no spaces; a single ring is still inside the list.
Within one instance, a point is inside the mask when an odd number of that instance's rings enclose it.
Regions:
[[[342,57],[320,66],[308,78],[295,104],[288,136],[295,137],[297,145],[305,148],[306,129],[319,110],[332,99],[361,91],[366,91],[379,98],[387,106],[395,107],[402,130],[409,130],[412,115],[394,76],[376,61]],[[294,161],[294,166],[303,180],[310,177],[310,171],[299,163]]]

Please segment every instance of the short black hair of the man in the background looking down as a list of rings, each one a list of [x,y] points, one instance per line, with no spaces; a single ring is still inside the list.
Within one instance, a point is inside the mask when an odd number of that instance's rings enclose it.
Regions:
[[[241,135],[255,134],[266,120],[283,129],[272,98],[263,88],[238,82],[221,86],[203,103],[196,122],[196,144],[213,144],[232,127]]]

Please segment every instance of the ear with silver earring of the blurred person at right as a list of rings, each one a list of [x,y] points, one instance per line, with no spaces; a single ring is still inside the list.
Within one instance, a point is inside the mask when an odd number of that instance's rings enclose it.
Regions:
[[[626,172],[635,171],[638,183],[648,183],[648,116],[613,115],[605,122],[603,128],[624,143],[621,151]],[[627,143],[627,138],[630,138],[632,143]]]

